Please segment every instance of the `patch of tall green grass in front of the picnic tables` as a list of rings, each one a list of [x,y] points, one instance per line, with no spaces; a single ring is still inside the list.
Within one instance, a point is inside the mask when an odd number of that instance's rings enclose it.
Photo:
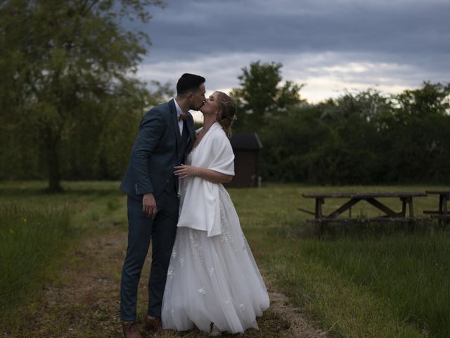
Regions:
[[[450,337],[450,236],[416,232],[302,241],[308,261],[328,266],[388,301],[402,320]]]

